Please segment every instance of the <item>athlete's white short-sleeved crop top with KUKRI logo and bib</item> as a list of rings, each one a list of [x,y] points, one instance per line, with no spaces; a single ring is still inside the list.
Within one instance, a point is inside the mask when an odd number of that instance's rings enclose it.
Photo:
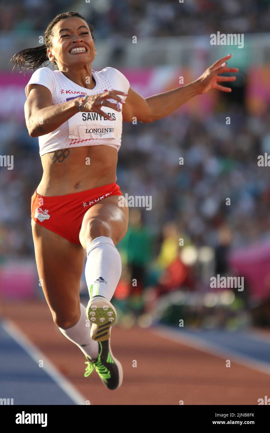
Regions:
[[[128,93],[130,84],[127,78],[115,68],[104,68],[102,71],[92,71],[92,76],[96,82],[94,89],[86,89],[73,81],[69,80],[61,71],[52,71],[49,68],[37,69],[25,87],[26,97],[29,84],[42,84],[47,87],[52,94],[52,103],[61,104],[70,99],[84,97],[85,95],[95,95],[110,90],[120,90]],[[121,99],[126,97],[120,95]],[[117,107],[122,108],[122,104],[117,102]],[[108,145],[117,151],[121,145],[122,136],[122,112],[113,110],[110,107],[101,107],[102,111],[111,115],[114,120],[107,120],[98,113],[78,112],[67,122],[62,123],[55,131],[49,132],[39,137],[39,155],[45,155],[59,149],[70,147]]]

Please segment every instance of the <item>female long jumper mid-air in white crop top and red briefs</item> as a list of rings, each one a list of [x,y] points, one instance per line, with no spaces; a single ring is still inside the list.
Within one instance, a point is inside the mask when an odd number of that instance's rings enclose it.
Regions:
[[[116,184],[122,121],[153,122],[208,90],[230,92],[218,83],[235,77],[218,74],[238,69],[227,67],[227,55],[192,83],[144,98],[117,69],[92,70],[93,32],[79,13],[61,13],[49,23],[45,45],[20,51],[13,62],[35,70],[25,88],[25,118],[29,135],[39,137],[43,167],[31,200],[42,289],[55,325],[85,354],[85,377],[95,369],[116,389],[123,370],[111,351],[116,311],[110,301],[121,275],[115,246],[128,223]],[[54,70],[41,67],[46,61]],[[85,252],[86,309],[79,296]]]

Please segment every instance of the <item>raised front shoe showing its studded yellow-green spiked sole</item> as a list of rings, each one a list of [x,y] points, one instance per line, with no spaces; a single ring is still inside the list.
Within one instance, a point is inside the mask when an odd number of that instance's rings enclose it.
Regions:
[[[111,326],[116,320],[116,310],[103,296],[94,296],[86,307],[86,317],[91,325],[91,339],[105,341],[110,338]]]

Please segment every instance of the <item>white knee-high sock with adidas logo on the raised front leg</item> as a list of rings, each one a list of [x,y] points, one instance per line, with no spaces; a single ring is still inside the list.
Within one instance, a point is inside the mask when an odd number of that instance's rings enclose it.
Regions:
[[[87,249],[85,278],[89,296],[104,296],[111,301],[121,276],[120,254],[106,236],[92,240]]]

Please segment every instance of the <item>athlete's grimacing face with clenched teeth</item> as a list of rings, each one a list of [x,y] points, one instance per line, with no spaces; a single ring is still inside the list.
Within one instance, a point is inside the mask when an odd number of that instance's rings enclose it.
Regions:
[[[47,53],[51,61],[55,57],[59,69],[91,63],[95,48],[87,23],[77,16],[61,19],[53,28],[52,48]]]

